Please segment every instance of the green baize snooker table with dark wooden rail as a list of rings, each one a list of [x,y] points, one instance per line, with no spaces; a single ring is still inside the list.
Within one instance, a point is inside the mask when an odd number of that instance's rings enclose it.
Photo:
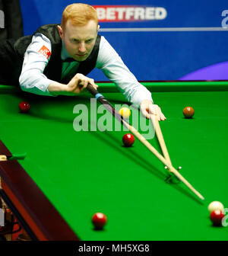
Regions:
[[[180,173],[205,200],[182,182],[166,182],[163,163],[138,139],[125,148],[127,131],[96,131],[106,112],[99,102],[91,107],[88,92],[49,98],[2,85],[0,155],[26,157],[0,162],[1,195],[33,240],[227,240],[228,229],[212,226],[207,206],[219,200],[228,207],[228,82],[141,83],[167,118],[160,127],[173,166],[182,166]],[[97,84],[113,106],[128,104],[112,83]],[[21,101],[30,103],[27,114],[18,110]],[[83,123],[74,123],[78,104],[88,109],[87,130],[74,129]],[[195,109],[192,119],[183,117],[186,106]],[[96,120],[91,113],[97,110]],[[139,121],[136,128],[153,135],[144,121],[147,130]],[[91,222],[97,212],[108,218],[102,231]]]

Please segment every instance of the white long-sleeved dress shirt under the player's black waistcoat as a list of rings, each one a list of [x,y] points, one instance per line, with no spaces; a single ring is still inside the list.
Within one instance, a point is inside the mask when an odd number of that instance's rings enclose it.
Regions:
[[[50,53],[52,52],[52,44],[49,38],[43,34],[35,34],[24,54],[24,63],[19,82],[23,91],[28,91],[33,94],[53,96],[48,91],[48,87],[53,81],[43,74],[49,59],[52,56],[49,56],[47,59],[46,56],[39,52],[43,46],[46,46]],[[62,60],[65,60],[68,57],[70,56],[62,42],[61,58]],[[76,75],[79,64],[80,63],[77,61],[63,62],[62,77],[72,71],[75,72]],[[97,56],[96,67],[101,69],[106,77],[115,83],[119,91],[121,91],[125,98],[131,102],[131,104],[134,104],[135,107],[139,107],[142,100],[148,99],[152,101],[150,91],[138,82],[135,75],[133,75],[127,66],[125,66],[122,59],[105,37],[101,37],[100,40],[100,49]]]

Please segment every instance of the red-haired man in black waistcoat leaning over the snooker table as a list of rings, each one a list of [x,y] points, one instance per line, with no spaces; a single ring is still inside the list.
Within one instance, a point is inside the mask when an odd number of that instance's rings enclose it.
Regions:
[[[34,94],[75,95],[88,83],[97,88],[93,79],[85,76],[96,67],[145,117],[151,113],[166,120],[160,107],[153,104],[150,91],[137,81],[105,37],[97,34],[99,27],[92,6],[72,4],[65,8],[61,26],[44,25],[32,36],[1,42],[0,83],[19,84],[23,91]]]

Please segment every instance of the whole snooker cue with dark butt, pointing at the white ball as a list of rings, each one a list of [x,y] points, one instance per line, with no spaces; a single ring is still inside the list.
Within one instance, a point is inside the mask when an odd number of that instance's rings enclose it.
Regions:
[[[157,158],[159,158],[160,161],[163,162],[163,164],[169,168],[169,171],[173,172],[173,174],[175,174],[176,177],[179,178],[179,180],[182,181],[190,190],[192,190],[192,192],[194,194],[196,194],[201,200],[204,200],[204,197],[202,197],[201,194],[197,190],[195,190],[195,188],[192,187],[192,185],[187,180],[185,180],[185,178],[183,178],[182,175],[179,174],[179,172],[176,171],[175,168],[173,168],[173,166],[166,160],[166,158],[163,158],[163,155],[160,155],[160,153],[157,152],[157,150],[154,149],[154,147],[151,146],[149,142],[147,142],[147,140],[144,138],[144,136],[142,136],[140,133],[138,133],[138,130],[136,130],[133,126],[131,126],[122,117],[122,115],[119,114],[114,107],[112,107],[112,105],[109,103],[109,101],[107,101],[106,98],[104,98],[103,95],[97,91],[97,89],[93,88],[92,85],[88,84],[87,91],[89,91],[90,94],[92,94],[97,99],[97,101],[100,101],[100,103],[103,104],[103,106],[106,108],[106,110],[108,110],[114,117],[116,117],[117,120],[119,120],[121,123],[123,123],[123,125],[128,130],[130,130],[131,133],[133,133],[138,138],[138,140],[141,143],[143,143],[144,146],[147,147],[147,149],[150,150],[150,152],[152,152]]]

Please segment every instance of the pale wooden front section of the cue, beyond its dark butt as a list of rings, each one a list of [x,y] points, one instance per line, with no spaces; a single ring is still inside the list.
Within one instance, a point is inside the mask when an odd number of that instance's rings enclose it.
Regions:
[[[173,172],[173,174],[175,174],[176,177],[179,178],[179,180],[182,181],[190,190],[192,190],[192,192],[196,194],[201,200],[204,200],[204,197],[197,190],[195,190],[195,188],[192,187],[192,185],[181,174],[179,174],[179,171],[176,171],[176,169],[173,168],[172,165],[170,165],[170,163],[163,157],[163,155],[160,155],[160,153],[157,152],[157,150],[154,149],[154,147],[151,146],[149,142],[147,142],[144,136],[138,133],[138,130],[136,130],[129,123],[125,122],[125,120],[122,120],[122,122],[125,124],[128,130],[130,130],[131,133],[133,133],[138,138],[138,140],[140,140],[140,142],[142,142],[144,146],[146,146],[147,149],[150,150],[150,152],[152,152],[157,158],[160,159],[161,162],[163,162],[164,165],[169,168],[169,171]]]

